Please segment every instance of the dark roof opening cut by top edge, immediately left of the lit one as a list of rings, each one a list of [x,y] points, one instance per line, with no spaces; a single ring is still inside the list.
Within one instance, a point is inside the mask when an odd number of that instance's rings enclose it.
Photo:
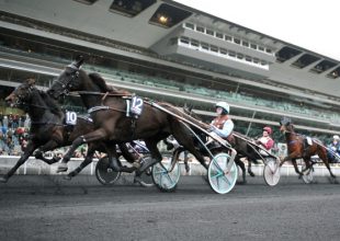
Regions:
[[[126,16],[135,16],[155,2],[156,0],[114,0],[110,11]]]

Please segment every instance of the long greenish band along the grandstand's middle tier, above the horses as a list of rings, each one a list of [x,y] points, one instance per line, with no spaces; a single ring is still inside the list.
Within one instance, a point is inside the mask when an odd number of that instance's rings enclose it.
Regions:
[[[0,47],[0,50],[5,53],[15,53],[16,55],[26,56],[30,58],[38,58],[38,59],[46,59],[52,62],[57,62],[60,65],[65,65],[66,62],[69,62],[68,59],[63,59],[59,57],[48,56],[48,55],[41,55],[36,53],[26,53],[18,49],[7,48],[7,47]],[[148,77],[143,76],[139,73],[133,73],[124,70],[117,70],[113,68],[105,68],[102,66],[88,66],[88,69],[91,71],[97,71],[101,73],[106,73],[111,76],[113,79],[116,79],[118,81],[128,81],[134,83],[140,83],[148,87],[156,87],[160,89],[171,90],[171,91],[179,91],[179,92],[186,92],[190,94],[196,94],[201,96],[214,96],[215,99],[223,99],[230,103],[246,103],[249,106],[262,106],[267,108],[273,108],[275,106],[275,110],[280,110],[286,113],[292,114],[298,114],[306,117],[313,117],[319,120],[326,120],[330,122],[335,125],[340,124],[340,115],[335,112],[329,112],[326,110],[308,110],[306,107],[302,107],[298,105],[293,105],[292,103],[287,102],[279,102],[279,101],[268,101],[260,97],[252,97],[239,93],[230,93],[228,91],[223,90],[213,90],[207,89],[203,87],[195,87],[191,84],[183,84],[177,81],[163,79],[160,77]]]

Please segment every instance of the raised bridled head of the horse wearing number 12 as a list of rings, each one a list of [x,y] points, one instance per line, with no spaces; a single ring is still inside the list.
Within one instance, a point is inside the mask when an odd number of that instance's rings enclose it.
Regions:
[[[82,56],[78,56],[76,60],[68,65],[65,70],[57,77],[52,87],[47,90],[47,93],[57,100],[61,95],[68,94],[70,91],[79,90],[81,84],[79,76],[84,74],[84,72],[80,70],[82,64]]]

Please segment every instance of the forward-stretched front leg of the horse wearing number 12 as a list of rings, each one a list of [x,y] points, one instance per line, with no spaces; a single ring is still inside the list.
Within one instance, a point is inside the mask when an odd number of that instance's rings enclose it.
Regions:
[[[61,163],[58,167],[57,172],[66,172],[67,171],[67,162],[71,159],[73,152],[76,149],[82,145],[88,142],[94,142],[94,141],[101,141],[106,137],[106,131],[104,128],[99,128],[90,134],[87,134],[84,136],[77,137],[69,150],[66,152],[66,154],[63,158]]]

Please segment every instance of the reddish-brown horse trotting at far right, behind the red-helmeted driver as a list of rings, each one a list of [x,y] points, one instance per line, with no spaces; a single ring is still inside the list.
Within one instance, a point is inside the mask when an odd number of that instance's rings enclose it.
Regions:
[[[329,171],[330,176],[336,182],[336,175],[331,172],[329,167],[329,161],[327,158],[327,148],[321,145],[320,141],[316,139],[311,139],[311,144],[307,144],[307,139],[303,135],[298,135],[294,130],[294,126],[290,118],[282,118],[280,122],[280,131],[285,135],[288,156],[285,157],[280,167],[286,161],[292,161],[295,172],[299,174],[299,176],[304,175],[304,171],[309,170],[315,162],[310,161],[311,156],[319,156],[319,158],[325,163],[326,168]],[[303,159],[306,163],[306,169],[299,171],[296,164],[296,159]]]

